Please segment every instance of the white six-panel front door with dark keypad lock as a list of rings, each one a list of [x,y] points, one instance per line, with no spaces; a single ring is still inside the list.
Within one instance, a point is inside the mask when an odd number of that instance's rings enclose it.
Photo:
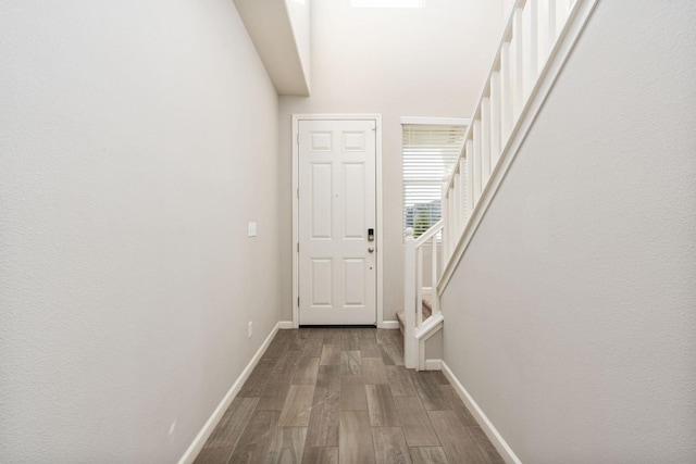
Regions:
[[[301,325],[376,322],[375,125],[299,122]]]

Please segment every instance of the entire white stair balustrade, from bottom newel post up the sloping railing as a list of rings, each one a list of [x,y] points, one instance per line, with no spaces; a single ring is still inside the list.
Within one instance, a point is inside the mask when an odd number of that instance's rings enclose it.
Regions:
[[[397,314],[406,367],[425,368],[425,342],[444,327],[439,298],[596,2],[512,4],[459,160],[444,179],[442,220],[418,239],[412,229],[406,230],[403,311]],[[430,269],[423,268],[426,246]],[[430,288],[423,286],[425,272],[431,273]]]

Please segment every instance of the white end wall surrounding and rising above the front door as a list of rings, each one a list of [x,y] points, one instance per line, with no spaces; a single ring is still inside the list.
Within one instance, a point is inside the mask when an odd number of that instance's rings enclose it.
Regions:
[[[401,116],[469,117],[502,32],[502,2],[428,0],[425,9],[312,1],[311,97],[279,99],[284,321],[291,319],[291,114],[383,115],[384,318],[402,306]]]

